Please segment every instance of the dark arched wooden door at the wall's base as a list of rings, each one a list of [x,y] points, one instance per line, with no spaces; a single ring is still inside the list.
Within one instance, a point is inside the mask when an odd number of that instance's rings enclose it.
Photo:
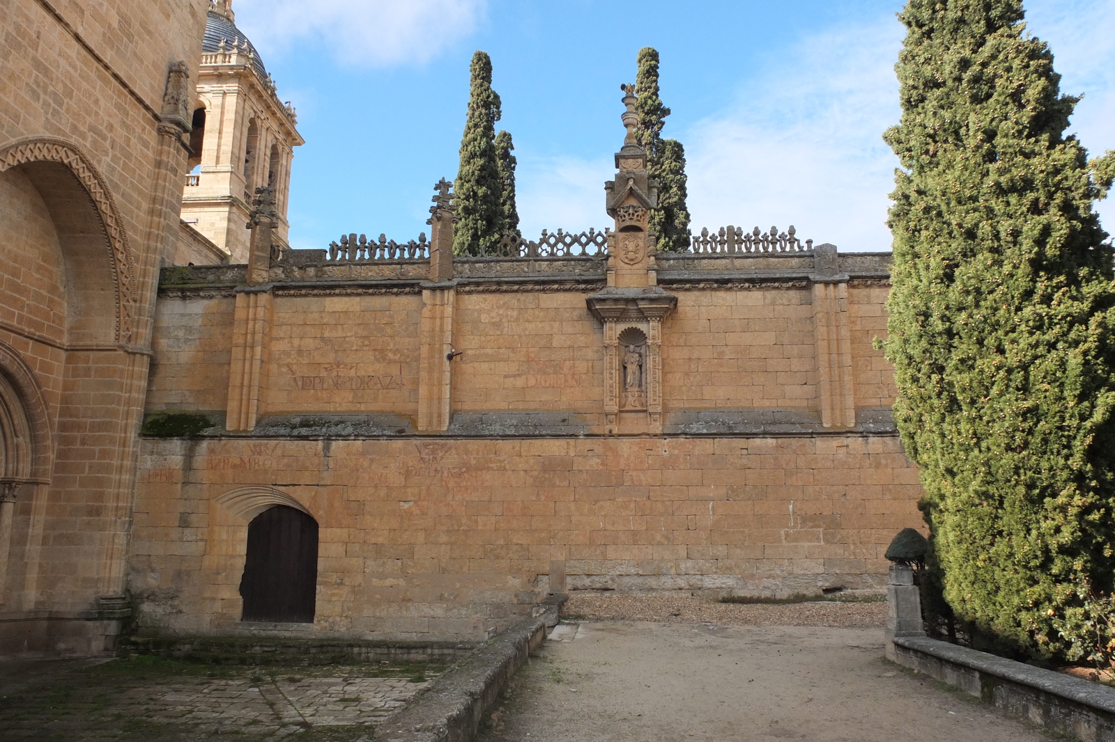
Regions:
[[[241,621],[313,623],[318,584],[318,521],[285,505],[248,525],[240,595]]]

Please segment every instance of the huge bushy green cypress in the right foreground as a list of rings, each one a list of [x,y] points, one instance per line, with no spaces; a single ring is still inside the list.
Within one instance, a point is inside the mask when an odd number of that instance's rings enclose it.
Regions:
[[[1115,648],[1115,285],[1021,0],[909,0],[888,358],[944,597],[978,635]],[[1109,160],[1107,162],[1109,166]]]

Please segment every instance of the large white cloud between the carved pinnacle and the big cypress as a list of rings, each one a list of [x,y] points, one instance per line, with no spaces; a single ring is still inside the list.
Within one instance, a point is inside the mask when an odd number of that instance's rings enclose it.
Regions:
[[[686,133],[694,232],[794,224],[842,251],[889,250],[898,160],[881,135],[900,115],[901,41],[891,17],[804,39]]]

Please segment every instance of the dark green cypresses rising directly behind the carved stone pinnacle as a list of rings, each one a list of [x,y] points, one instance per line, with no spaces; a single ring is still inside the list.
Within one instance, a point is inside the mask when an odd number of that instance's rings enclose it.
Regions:
[[[639,97],[639,129],[636,140],[647,150],[650,177],[659,182],[658,208],[650,213],[650,231],[658,235],[659,250],[689,246],[689,209],[686,207],[686,155],[677,139],[662,139],[670,109],[658,95],[658,51],[643,47],[636,58],[639,69],[634,92]]]

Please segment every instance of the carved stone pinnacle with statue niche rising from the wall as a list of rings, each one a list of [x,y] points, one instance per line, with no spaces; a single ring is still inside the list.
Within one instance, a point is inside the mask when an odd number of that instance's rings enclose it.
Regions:
[[[604,418],[607,432],[662,432],[662,319],[678,297],[657,284],[650,209],[658,182],[647,172],[647,152],[636,143],[639,115],[634,86],[621,86],[627,136],[615,153],[614,180],[604,184],[605,209],[615,221],[608,233],[608,286],[588,297],[604,325]]]

